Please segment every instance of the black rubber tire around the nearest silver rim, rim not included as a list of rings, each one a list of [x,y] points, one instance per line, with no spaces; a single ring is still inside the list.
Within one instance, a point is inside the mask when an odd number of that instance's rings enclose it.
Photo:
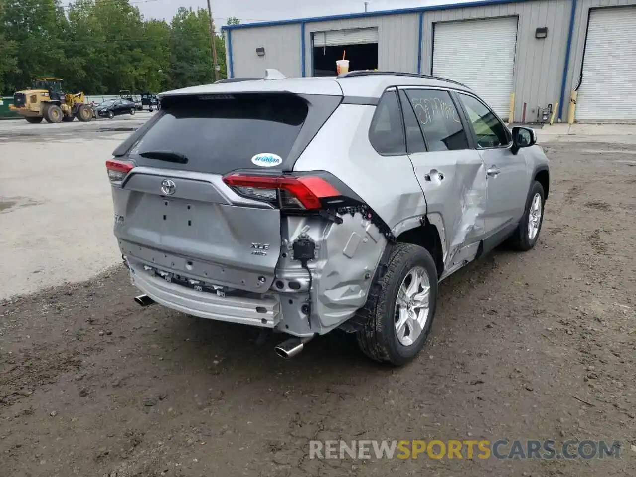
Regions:
[[[397,338],[396,300],[403,280],[416,266],[424,268],[429,279],[429,312],[417,339],[408,346]],[[435,316],[438,294],[438,275],[431,254],[418,245],[396,244],[387,261],[387,272],[369,291],[366,305],[359,312],[366,321],[357,332],[357,342],[366,356],[375,361],[403,366],[424,348]]]

